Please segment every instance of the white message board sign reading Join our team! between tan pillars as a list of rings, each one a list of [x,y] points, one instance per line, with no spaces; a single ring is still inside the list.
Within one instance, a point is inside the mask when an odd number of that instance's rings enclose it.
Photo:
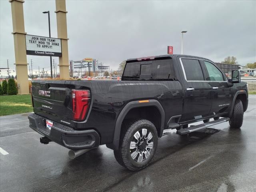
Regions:
[[[61,40],[57,38],[26,35],[27,55],[61,57]]]

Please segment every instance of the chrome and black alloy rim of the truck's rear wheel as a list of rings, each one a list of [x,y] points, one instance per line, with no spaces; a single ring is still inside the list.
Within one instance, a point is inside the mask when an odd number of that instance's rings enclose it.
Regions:
[[[153,145],[152,133],[147,129],[138,130],[130,143],[132,159],[137,162],[146,160],[150,156]]]

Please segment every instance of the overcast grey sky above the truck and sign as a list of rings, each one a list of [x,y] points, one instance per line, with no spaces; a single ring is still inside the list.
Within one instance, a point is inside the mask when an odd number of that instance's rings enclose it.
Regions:
[[[57,38],[55,1],[25,0],[27,34]],[[70,60],[98,59],[116,70],[127,58],[167,53],[174,46],[180,54],[182,30],[184,54],[221,62],[235,56],[241,65],[256,62],[256,1],[66,1]],[[1,67],[15,68],[11,4],[0,0]],[[50,69],[50,58],[27,56],[33,68]],[[58,63],[58,58],[54,58]]]

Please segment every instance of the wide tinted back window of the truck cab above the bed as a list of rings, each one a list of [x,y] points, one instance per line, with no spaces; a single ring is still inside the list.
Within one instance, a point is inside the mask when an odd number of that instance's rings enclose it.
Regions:
[[[172,59],[128,62],[124,69],[124,80],[174,80]]]

